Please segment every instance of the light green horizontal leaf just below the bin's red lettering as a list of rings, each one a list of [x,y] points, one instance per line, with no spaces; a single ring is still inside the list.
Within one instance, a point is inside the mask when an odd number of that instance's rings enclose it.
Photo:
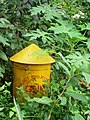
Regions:
[[[50,103],[53,102],[52,99],[50,99],[46,96],[43,96],[42,98],[33,98],[31,101],[35,101],[37,103],[46,104],[46,105],[50,105]]]

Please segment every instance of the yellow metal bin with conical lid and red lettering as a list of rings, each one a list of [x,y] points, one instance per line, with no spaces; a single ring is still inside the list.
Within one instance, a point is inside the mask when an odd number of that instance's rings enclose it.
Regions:
[[[13,61],[13,95],[23,86],[26,94],[42,96],[50,84],[51,63],[55,60],[35,44],[31,44],[10,58]]]

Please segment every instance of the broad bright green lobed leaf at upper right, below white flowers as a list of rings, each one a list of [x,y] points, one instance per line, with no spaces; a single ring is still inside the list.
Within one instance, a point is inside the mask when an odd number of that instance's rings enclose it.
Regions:
[[[61,23],[62,25],[59,24],[54,24],[54,26],[51,26],[49,30],[54,31],[55,34],[60,34],[60,33],[65,33],[67,34],[70,38],[79,38],[82,40],[86,40],[87,38],[84,37],[79,30],[75,28],[73,24],[70,25],[68,21],[64,21],[64,23]]]

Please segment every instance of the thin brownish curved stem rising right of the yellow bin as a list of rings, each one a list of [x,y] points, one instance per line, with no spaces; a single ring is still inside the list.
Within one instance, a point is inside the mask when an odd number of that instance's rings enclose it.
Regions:
[[[68,83],[69,83],[70,80],[71,80],[71,78],[68,79],[68,81],[67,81],[65,87],[63,88],[61,94],[58,96],[58,98],[57,98],[56,101],[54,102],[54,104],[53,104],[53,106],[52,106],[52,108],[51,108],[51,111],[50,111],[50,113],[49,113],[48,120],[50,120],[51,114],[52,114],[52,110],[53,110],[53,108],[55,107],[56,103],[60,100],[60,97],[64,94],[64,92],[65,92],[65,90],[66,90],[66,88],[67,88],[67,85],[68,85]]]

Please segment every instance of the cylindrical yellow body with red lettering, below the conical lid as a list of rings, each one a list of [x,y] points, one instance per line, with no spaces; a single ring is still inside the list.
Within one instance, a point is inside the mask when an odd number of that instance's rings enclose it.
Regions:
[[[44,87],[50,84],[50,64],[28,65],[14,63],[13,94],[16,96],[17,87],[23,86],[26,94],[31,97],[42,96]]]

